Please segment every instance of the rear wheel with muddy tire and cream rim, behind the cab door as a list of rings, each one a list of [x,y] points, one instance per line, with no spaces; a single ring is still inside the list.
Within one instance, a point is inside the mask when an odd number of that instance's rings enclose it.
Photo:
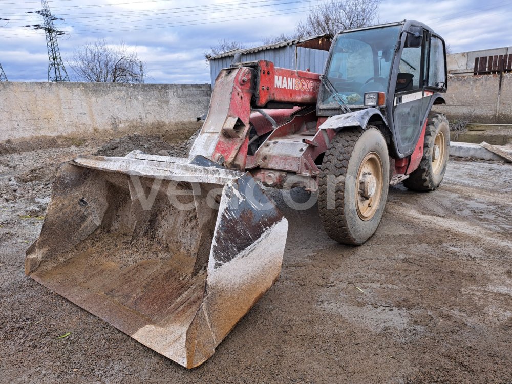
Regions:
[[[423,157],[418,169],[403,181],[404,186],[415,191],[436,189],[446,172],[450,154],[450,127],[443,114],[429,114],[423,147]]]

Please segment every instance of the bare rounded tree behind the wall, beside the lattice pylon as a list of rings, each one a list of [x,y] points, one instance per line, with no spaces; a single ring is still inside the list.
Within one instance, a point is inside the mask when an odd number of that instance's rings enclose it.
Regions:
[[[69,66],[81,81],[143,82],[137,52],[122,41],[115,46],[101,39],[88,42],[75,50]],[[142,72],[145,72],[145,63],[142,63]]]

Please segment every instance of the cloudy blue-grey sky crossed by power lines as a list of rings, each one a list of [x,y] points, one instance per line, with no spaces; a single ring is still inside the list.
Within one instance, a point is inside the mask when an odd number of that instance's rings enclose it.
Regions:
[[[354,1],[354,0],[347,0]],[[220,39],[260,45],[293,33],[317,1],[310,0],[48,0],[69,33],[58,40],[65,62],[88,41],[135,47],[155,83],[210,82],[204,53]],[[380,22],[416,19],[431,26],[452,52],[512,46],[510,0],[382,0]],[[0,0],[0,63],[9,81],[47,81],[48,54],[42,23],[30,11],[41,2]],[[73,79],[71,69],[68,69]]]

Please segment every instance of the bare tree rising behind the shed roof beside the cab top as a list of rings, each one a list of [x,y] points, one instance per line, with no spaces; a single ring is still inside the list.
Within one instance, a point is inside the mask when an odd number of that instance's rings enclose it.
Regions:
[[[372,25],[378,18],[381,0],[327,0],[311,8],[295,31],[300,37],[336,34],[351,28]]]

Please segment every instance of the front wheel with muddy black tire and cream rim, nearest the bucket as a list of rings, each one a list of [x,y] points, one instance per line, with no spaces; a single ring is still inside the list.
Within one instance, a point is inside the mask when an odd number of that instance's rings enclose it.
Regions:
[[[388,186],[388,147],[380,131],[340,131],[318,177],[318,211],[327,234],[343,244],[366,242],[384,214]]]

